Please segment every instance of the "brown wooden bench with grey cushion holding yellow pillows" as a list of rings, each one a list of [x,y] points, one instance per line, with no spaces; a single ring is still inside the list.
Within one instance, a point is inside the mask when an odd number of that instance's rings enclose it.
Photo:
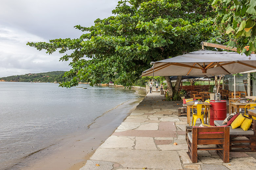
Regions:
[[[244,116],[244,115],[243,115]],[[245,116],[246,117],[246,116]],[[248,118],[248,117],[246,117]],[[250,119],[250,118],[248,118]],[[215,120],[215,126],[223,126],[222,120]],[[230,152],[256,152],[256,120],[252,120],[251,127],[244,131],[241,127],[232,129],[229,131],[229,151]],[[240,138],[237,138],[240,137]],[[241,139],[243,137],[244,139]],[[244,149],[240,149],[244,148]]]

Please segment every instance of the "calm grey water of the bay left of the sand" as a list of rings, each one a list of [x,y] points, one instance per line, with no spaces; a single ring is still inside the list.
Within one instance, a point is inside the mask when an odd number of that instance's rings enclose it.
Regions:
[[[66,134],[87,129],[104,112],[139,97],[134,90],[79,86],[88,89],[0,82],[0,170]]]

